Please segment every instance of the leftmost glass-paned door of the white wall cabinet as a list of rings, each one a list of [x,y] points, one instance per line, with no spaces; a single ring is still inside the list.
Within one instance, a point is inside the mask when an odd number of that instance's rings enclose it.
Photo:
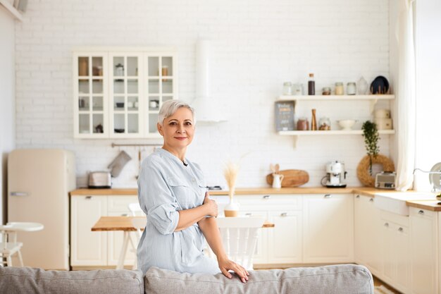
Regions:
[[[107,54],[74,54],[75,137],[108,137]]]

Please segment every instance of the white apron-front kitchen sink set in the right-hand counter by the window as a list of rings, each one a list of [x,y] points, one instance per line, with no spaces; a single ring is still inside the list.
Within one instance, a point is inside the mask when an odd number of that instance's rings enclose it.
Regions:
[[[410,200],[435,200],[435,194],[430,192],[385,192],[375,194],[375,207],[386,212],[409,215],[409,207],[406,201]]]

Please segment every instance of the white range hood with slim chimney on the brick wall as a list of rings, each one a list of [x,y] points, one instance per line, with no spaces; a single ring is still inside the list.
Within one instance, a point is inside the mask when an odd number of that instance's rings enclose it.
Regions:
[[[210,95],[210,42],[199,40],[196,44],[196,98],[192,107],[196,121],[218,123],[227,121],[222,109]]]

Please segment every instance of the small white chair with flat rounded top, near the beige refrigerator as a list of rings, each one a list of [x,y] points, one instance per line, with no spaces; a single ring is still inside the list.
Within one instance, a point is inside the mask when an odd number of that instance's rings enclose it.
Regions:
[[[6,225],[0,226],[0,265],[6,264],[8,267],[12,267],[12,256],[15,253],[18,256],[20,267],[24,267],[23,257],[21,256],[20,248],[23,247],[23,243],[17,242],[18,231],[40,231],[44,228],[42,223],[27,223],[27,222],[12,222],[6,223]],[[4,259],[6,258],[6,262]]]

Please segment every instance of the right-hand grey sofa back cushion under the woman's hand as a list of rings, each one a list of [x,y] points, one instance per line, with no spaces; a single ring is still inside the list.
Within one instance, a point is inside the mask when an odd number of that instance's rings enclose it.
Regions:
[[[373,279],[366,267],[339,264],[325,267],[298,267],[249,271],[249,281],[242,283],[223,274],[180,274],[151,267],[144,276],[146,294],[164,293],[373,293]]]

